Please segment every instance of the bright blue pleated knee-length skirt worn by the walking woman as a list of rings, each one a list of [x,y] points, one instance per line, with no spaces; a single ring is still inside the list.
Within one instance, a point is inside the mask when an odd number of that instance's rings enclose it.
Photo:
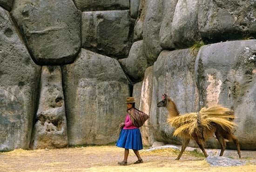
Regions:
[[[122,147],[125,149],[135,149],[135,150],[143,149],[140,129],[138,128],[130,129],[130,130],[122,129],[119,135],[119,139],[116,142],[116,146]]]

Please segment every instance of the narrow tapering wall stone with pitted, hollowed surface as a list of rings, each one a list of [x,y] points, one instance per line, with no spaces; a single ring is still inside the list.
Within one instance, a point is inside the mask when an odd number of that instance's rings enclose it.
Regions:
[[[31,149],[68,146],[60,66],[42,67],[39,107],[33,130]]]

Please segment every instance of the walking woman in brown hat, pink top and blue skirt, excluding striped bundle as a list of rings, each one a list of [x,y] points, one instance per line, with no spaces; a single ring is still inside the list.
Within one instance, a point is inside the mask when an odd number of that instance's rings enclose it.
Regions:
[[[143,149],[141,132],[139,127],[134,125],[134,123],[132,122],[134,121],[134,118],[131,114],[129,114],[129,112],[133,110],[133,108],[134,111],[138,111],[137,109],[135,109],[135,101],[133,97],[126,98],[126,106],[128,112],[124,123],[120,124],[122,130],[120,132],[119,139],[116,142],[116,146],[124,148],[124,159],[123,161],[118,162],[118,164],[127,165],[129,149],[132,149],[138,158],[138,160],[134,164],[140,164],[143,162],[139,153],[139,150]]]

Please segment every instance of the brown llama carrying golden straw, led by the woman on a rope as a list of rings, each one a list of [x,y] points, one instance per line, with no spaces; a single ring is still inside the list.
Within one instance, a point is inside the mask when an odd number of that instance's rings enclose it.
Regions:
[[[204,149],[204,143],[207,139],[213,137],[214,133],[221,145],[220,156],[226,149],[226,141],[233,141],[237,148],[239,158],[241,158],[238,139],[232,132],[236,124],[233,122],[234,112],[220,105],[203,107],[200,112],[187,113],[180,115],[175,103],[163,94],[162,101],[157,103],[157,107],[166,107],[169,112],[168,123],[175,127],[174,136],[182,138],[182,150],[175,160],[179,160],[182,153],[189,144],[190,139],[194,139],[202,150],[204,156],[208,155]]]

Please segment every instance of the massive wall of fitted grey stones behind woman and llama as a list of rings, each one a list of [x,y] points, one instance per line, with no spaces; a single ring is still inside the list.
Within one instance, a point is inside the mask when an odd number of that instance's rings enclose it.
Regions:
[[[160,125],[163,93],[181,114],[231,108],[241,149],[255,150],[255,9],[253,0],[0,0],[0,151],[113,143],[132,95],[150,115],[143,144],[181,144]]]

